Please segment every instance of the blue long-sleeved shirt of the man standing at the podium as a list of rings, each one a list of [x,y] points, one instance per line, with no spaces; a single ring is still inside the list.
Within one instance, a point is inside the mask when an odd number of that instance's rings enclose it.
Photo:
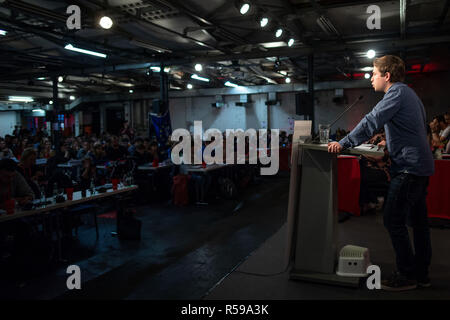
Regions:
[[[339,144],[345,149],[356,147],[369,140],[383,126],[393,173],[434,174],[425,109],[416,93],[404,83],[395,82],[383,99]]]

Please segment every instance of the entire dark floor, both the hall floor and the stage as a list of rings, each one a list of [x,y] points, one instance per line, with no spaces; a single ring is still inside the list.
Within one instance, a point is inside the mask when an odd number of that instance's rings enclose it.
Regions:
[[[115,220],[99,219],[99,239],[92,226],[81,228],[77,240],[65,246],[67,262],[48,264],[30,257],[29,271],[0,272],[0,299],[450,298],[448,229],[432,229],[433,287],[429,289],[387,293],[289,280],[289,272],[283,272],[288,183],[286,175],[264,177],[241,192],[239,200],[209,206],[137,207],[141,241],[112,237]],[[352,217],[338,228],[339,248],[345,244],[368,247],[372,262],[383,273],[394,269],[380,213]],[[66,268],[71,264],[81,268],[81,290],[67,290]],[[262,277],[242,271],[279,274]]]

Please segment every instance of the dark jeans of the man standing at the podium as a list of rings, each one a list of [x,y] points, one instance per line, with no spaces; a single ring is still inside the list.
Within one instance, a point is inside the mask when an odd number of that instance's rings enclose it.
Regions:
[[[426,194],[429,177],[400,173],[391,179],[384,226],[391,236],[398,271],[411,279],[428,276],[431,262],[431,239],[428,226]],[[414,232],[414,250],[411,247],[406,222]]]

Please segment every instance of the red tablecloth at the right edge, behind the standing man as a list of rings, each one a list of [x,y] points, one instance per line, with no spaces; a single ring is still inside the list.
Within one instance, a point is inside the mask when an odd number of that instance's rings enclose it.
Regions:
[[[434,160],[428,187],[428,217],[450,219],[450,160]]]

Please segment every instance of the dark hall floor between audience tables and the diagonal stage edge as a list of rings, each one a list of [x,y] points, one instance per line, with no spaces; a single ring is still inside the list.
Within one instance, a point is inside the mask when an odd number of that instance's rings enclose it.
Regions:
[[[0,277],[0,298],[201,299],[284,223],[288,180],[260,178],[238,200],[208,206],[137,207],[141,241],[112,237],[115,220],[99,219],[99,239],[92,226],[81,228],[77,240],[65,245],[67,262],[30,257],[30,272],[15,281]],[[82,290],[66,288],[71,264],[81,269]]]

